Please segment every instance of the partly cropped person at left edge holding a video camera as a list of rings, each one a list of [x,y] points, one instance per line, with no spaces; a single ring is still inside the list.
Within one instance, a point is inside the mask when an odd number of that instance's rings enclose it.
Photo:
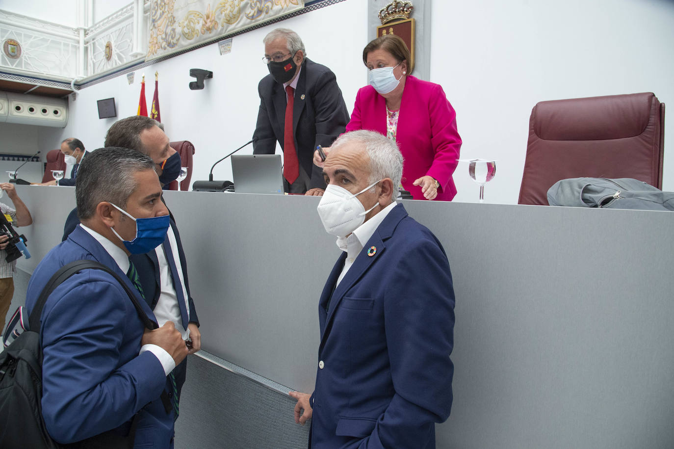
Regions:
[[[14,204],[14,208],[7,206],[0,202],[0,211],[5,214],[5,218],[12,227],[28,226],[33,222],[30,211],[26,204],[19,198],[14,189],[14,185],[10,183],[0,183],[0,198],[7,193],[7,196]],[[0,233],[0,330],[5,328],[5,316],[9,305],[11,304],[11,297],[14,295],[14,280],[12,278],[16,260],[7,262],[7,245],[9,244],[10,236],[7,233]]]

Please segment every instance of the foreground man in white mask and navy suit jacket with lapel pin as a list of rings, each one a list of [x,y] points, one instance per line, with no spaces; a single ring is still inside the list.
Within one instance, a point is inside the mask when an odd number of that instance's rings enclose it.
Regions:
[[[435,448],[450,415],[452,274],[396,204],[401,175],[396,144],[373,131],[342,134],[325,161],[317,212],[342,254],[319,301],[315,390],[290,392],[310,448]]]

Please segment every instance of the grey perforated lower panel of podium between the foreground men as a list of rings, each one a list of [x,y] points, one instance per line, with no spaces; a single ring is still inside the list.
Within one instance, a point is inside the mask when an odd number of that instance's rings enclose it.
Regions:
[[[307,447],[309,424],[295,424],[295,400],[275,391],[288,388],[208,353],[203,356],[210,360],[188,357],[175,448]]]

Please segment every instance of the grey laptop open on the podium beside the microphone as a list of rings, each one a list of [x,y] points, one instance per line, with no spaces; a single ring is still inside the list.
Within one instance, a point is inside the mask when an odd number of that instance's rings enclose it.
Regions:
[[[280,154],[233,154],[232,175],[237,193],[283,194]]]

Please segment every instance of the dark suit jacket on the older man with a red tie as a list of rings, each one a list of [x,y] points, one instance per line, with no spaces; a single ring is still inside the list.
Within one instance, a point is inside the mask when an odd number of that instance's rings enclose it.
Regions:
[[[259,112],[253,133],[253,154],[274,154],[284,147],[286,91],[271,75],[260,80]],[[313,164],[317,145],[330,146],[344,132],[349,115],[332,70],[305,58],[293,104],[293,133],[297,160],[311,178],[311,188],[326,188],[323,171]]]

